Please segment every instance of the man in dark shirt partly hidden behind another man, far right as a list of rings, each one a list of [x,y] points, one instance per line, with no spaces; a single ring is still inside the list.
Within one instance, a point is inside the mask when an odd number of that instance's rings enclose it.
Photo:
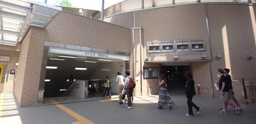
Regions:
[[[226,74],[226,81],[227,81],[227,84],[228,84],[228,87],[229,87],[229,100],[234,100],[236,105],[239,107],[239,111],[242,112],[243,109],[242,107],[240,106],[240,104],[238,103],[238,100],[236,100],[234,94],[233,94],[233,86],[232,86],[232,79],[231,79],[231,76],[229,75],[229,69],[228,68],[225,68],[224,70],[224,74]],[[226,108],[227,108],[227,105],[226,104]]]

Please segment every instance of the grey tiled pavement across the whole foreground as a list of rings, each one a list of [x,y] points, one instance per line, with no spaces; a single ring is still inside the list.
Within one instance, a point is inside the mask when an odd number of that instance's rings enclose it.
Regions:
[[[0,94],[0,124],[255,124],[256,103],[242,104],[238,115],[228,106],[228,114],[219,114],[218,98],[194,96],[193,102],[201,107],[195,116],[188,112],[184,94],[170,94],[175,106],[157,109],[158,95],[134,97],[133,109],[117,103],[117,95],[111,99],[94,97],[66,100],[45,99],[40,106],[19,107],[13,93]],[[50,102],[51,101],[51,102]],[[64,102],[65,101],[65,102]],[[72,103],[73,102],[73,103]],[[233,102],[233,101],[232,101]],[[55,104],[53,104],[55,103]]]

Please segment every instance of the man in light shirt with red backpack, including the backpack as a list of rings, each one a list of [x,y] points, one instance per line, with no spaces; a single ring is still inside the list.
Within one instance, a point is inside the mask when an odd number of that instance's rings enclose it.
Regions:
[[[127,71],[125,74],[127,77],[125,78],[125,89],[126,89],[126,94],[127,94],[127,108],[132,109],[133,108],[133,103],[131,103],[131,96],[133,93],[133,88],[135,87],[135,83],[133,78],[130,76],[130,71]]]

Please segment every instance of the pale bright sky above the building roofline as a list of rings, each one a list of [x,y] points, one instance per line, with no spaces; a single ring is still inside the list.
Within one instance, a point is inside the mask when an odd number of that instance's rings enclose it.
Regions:
[[[44,0],[35,0],[38,2],[44,2]],[[61,2],[62,0],[47,0],[47,4],[53,5],[58,5],[56,3],[57,1]],[[91,9],[91,10],[98,10],[101,11],[101,6],[102,6],[102,0],[68,0],[69,3],[72,4],[73,7],[76,8],[81,8],[81,9]],[[125,0],[104,0],[104,9],[115,5],[116,3],[120,3]]]

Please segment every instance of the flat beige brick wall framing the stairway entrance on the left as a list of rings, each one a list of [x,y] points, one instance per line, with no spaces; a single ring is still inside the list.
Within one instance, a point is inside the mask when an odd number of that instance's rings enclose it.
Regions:
[[[20,106],[37,103],[44,41],[130,52],[130,29],[60,12],[46,27],[30,27],[21,47],[15,95]],[[18,89],[22,87],[22,91]]]

